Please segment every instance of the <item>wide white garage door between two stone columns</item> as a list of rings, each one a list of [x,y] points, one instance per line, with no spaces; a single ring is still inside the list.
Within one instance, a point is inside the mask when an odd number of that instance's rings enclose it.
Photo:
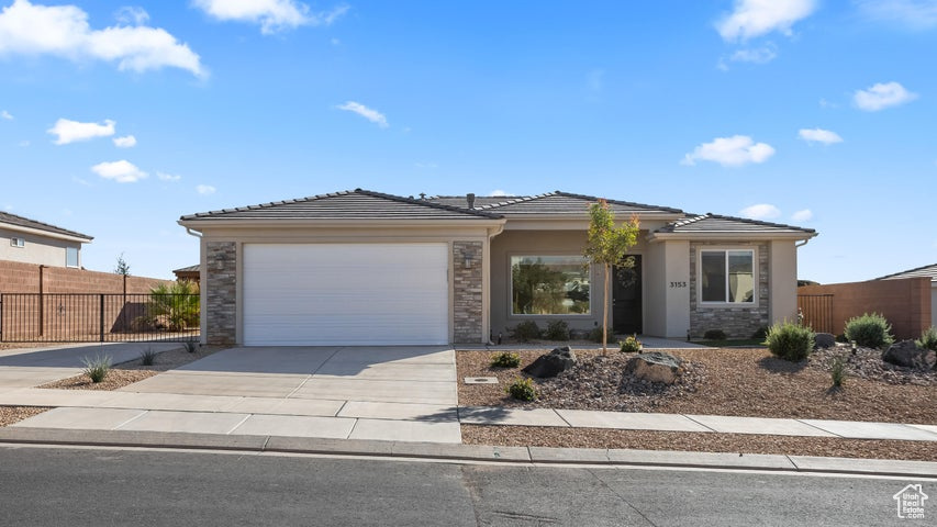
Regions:
[[[446,244],[245,244],[244,344],[449,340]]]

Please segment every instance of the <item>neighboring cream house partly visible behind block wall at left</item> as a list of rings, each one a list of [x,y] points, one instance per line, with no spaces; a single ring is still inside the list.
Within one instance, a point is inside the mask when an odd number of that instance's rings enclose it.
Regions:
[[[0,212],[0,260],[80,268],[81,244],[92,239],[75,231]]]

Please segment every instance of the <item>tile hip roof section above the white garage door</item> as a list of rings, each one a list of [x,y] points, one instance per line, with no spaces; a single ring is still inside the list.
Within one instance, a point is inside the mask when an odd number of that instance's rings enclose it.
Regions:
[[[446,220],[500,218],[465,209],[369,190],[346,190],[298,200],[275,201],[182,216],[198,220]]]

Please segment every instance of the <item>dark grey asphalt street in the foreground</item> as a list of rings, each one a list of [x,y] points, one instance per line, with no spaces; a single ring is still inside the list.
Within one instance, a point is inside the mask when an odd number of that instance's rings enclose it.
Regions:
[[[0,446],[0,525],[934,525],[900,479]],[[929,506],[929,509],[927,508]]]

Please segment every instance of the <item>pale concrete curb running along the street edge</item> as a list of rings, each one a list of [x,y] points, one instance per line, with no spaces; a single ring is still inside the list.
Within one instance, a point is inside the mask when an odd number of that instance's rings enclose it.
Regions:
[[[282,436],[0,428],[0,444],[310,453],[549,466],[658,467],[937,479],[937,462],[670,450],[495,447]]]

